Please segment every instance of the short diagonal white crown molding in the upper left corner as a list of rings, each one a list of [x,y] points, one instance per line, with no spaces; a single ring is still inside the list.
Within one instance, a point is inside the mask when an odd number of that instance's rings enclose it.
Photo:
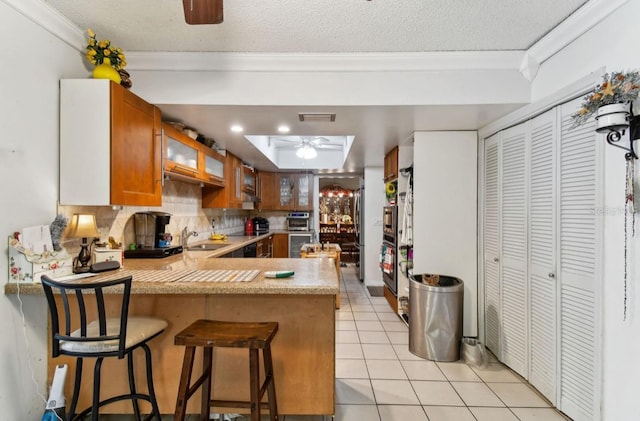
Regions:
[[[75,50],[84,53],[86,38],[78,28],[60,12],[40,0],[0,0]]]

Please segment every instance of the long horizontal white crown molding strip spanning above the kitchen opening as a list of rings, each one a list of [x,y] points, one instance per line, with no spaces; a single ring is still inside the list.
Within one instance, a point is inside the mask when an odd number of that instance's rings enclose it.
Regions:
[[[376,72],[515,70],[521,51],[421,53],[128,52],[127,68],[173,71]]]

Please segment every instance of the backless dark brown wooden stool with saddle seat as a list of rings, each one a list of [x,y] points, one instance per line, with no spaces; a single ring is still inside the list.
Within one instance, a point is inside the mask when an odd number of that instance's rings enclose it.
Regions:
[[[276,405],[276,388],[273,379],[271,361],[271,341],[278,331],[277,322],[247,323],[224,322],[217,320],[197,320],[175,336],[176,345],[186,346],[178,400],[174,420],[185,419],[187,401],[202,386],[200,420],[208,421],[212,406],[225,408],[250,408],[251,421],[260,420],[260,407],[265,391],[268,394],[269,415],[271,421],[278,420]],[[193,357],[197,347],[203,348],[202,375],[191,384]],[[249,381],[250,400],[226,401],[211,399],[211,381],[213,372],[213,348],[248,348],[249,349]],[[258,351],[262,349],[265,379],[260,385],[260,361]]]

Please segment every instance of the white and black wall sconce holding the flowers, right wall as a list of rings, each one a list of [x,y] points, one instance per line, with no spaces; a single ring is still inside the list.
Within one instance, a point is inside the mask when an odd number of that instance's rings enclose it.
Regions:
[[[596,120],[596,132],[606,133],[609,145],[627,151],[624,155],[627,161],[638,159],[633,142],[640,137],[640,115],[633,115],[633,102],[602,106],[598,109]],[[627,128],[629,129],[629,147],[618,144]]]

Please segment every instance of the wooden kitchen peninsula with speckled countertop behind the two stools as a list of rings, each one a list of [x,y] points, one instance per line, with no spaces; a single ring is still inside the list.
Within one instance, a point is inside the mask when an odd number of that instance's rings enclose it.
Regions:
[[[254,237],[255,238],[255,237]],[[241,242],[230,245],[241,247]],[[211,243],[209,243],[211,244]],[[228,248],[226,250],[229,250]],[[335,412],[335,295],[339,293],[335,264],[331,259],[211,258],[226,253],[185,251],[164,259],[126,259],[123,269],[100,274],[104,279],[133,276],[130,315],[164,318],[167,330],[150,342],[154,383],[160,412],[175,408],[184,348],[173,344],[174,336],[191,322],[201,319],[230,321],[276,321],[279,331],[272,353],[278,409],[282,414],[333,414]],[[265,272],[293,271],[290,278],[266,278]],[[254,272],[249,281],[211,282],[214,273],[229,276]],[[250,276],[249,276],[250,278]],[[17,292],[16,284],[6,284],[5,293]],[[21,284],[20,294],[42,294],[39,284]],[[115,295],[118,294],[114,291]],[[43,305],[44,305],[43,297]],[[138,355],[137,357],[141,357]],[[199,360],[199,358],[198,358]],[[68,358],[49,358],[49,381],[56,364]],[[103,395],[126,390],[124,361],[105,361]],[[140,365],[143,367],[144,365]],[[238,349],[216,350],[213,395],[216,399],[245,399],[248,389],[248,355]],[[195,370],[199,368],[196,366]],[[85,370],[82,390],[90,390],[91,370]],[[72,379],[72,376],[69,376]],[[144,373],[137,374],[143,384]],[[67,381],[65,395],[71,396],[73,381]],[[142,386],[141,386],[142,387]],[[199,393],[199,392],[198,392]],[[79,406],[88,405],[88,393],[81,393]],[[199,398],[192,399],[189,413],[198,413]],[[105,407],[110,413],[130,412],[130,403]],[[228,412],[228,410],[227,410]]]

